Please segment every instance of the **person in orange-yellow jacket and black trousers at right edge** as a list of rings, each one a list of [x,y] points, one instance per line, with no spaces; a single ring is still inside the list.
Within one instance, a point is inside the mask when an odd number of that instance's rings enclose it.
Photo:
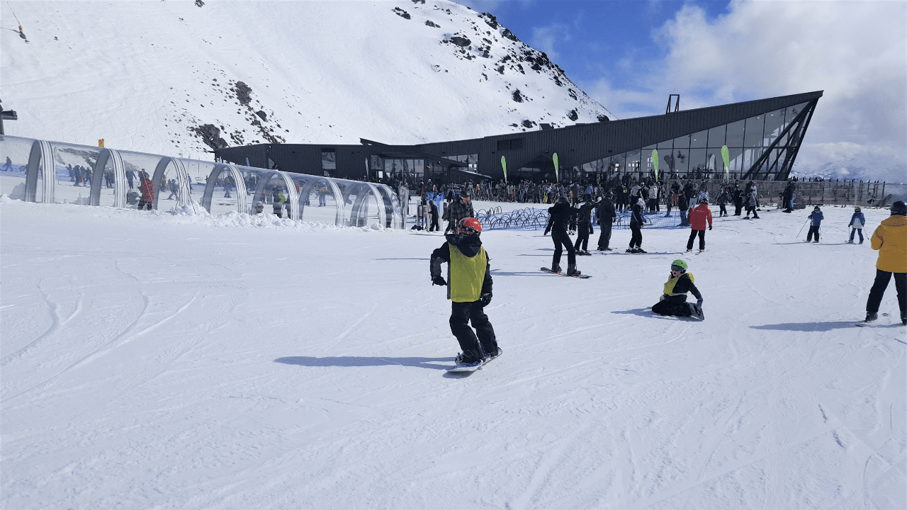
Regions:
[[[875,262],[875,281],[866,300],[864,322],[879,318],[879,305],[893,274],[901,323],[907,326],[907,204],[903,201],[892,203],[892,216],[882,221],[870,241],[873,250],[879,250],[879,260]]]

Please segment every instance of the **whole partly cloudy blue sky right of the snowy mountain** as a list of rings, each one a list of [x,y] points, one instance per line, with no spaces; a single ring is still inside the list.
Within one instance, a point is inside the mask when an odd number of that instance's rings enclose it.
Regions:
[[[907,2],[460,0],[618,118],[824,91],[797,167],[907,181]]]

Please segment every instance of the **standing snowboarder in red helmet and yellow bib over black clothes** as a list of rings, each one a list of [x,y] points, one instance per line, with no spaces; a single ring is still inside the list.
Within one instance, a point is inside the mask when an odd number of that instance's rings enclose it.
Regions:
[[[432,252],[432,284],[447,286],[447,299],[452,301],[451,332],[463,349],[455,359],[458,366],[478,367],[501,354],[484,310],[492,302],[492,273],[480,234],[480,221],[463,218],[456,232],[447,234],[447,241]],[[444,262],[447,262],[446,281],[441,276]],[[475,332],[469,327],[470,322]]]

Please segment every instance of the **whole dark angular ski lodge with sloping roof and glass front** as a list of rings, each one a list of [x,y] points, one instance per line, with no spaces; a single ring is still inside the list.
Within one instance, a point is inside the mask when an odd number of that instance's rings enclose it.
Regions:
[[[471,140],[389,145],[261,143],[215,150],[219,162],[354,180],[410,182],[504,179],[603,181],[668,178],[786,181],[822,91],[680,111],[679,96],[663,115],[578,123]],[[671,101],[677,97],[674,111]],[[725,166],[722,148],[727,147]],[[556,157],[555,157],[556,155]]]

